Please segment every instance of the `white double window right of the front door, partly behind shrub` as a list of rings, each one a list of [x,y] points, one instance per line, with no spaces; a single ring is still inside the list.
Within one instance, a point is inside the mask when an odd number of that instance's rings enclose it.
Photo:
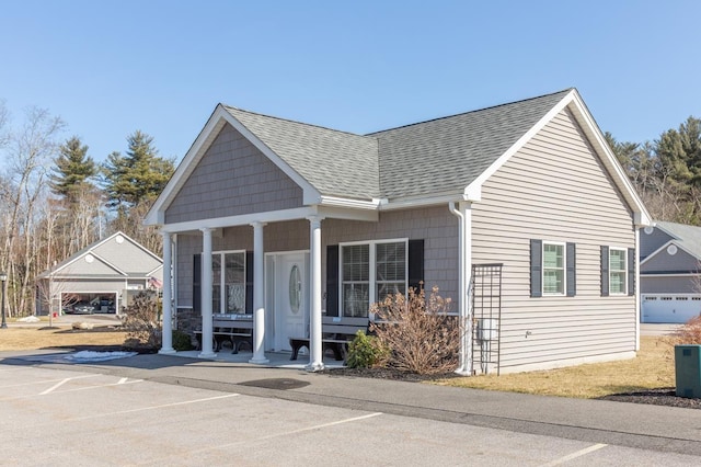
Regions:
[[[407,240],[342,244],[342,315],[367,317],[370,303],[406,294],[407,275]]]

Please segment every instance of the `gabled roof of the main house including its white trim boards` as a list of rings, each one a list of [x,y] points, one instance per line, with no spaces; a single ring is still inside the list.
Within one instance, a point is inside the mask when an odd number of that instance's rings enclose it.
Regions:
[[[650,224],[645,207],[575,89],[369,135],[219,104],[145,221],[164,224],[168,206],[227,123],[302,189],[306,205],[331,204],[334,198],[389,209],[403,203],[479,201],[484,181],[565,107],[635,213],[635,223]]]

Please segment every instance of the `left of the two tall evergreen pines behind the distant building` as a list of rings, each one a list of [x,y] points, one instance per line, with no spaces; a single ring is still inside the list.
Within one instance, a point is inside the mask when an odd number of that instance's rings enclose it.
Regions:
[[[54,173],[49,174],[49,186],[68,204],[74,203],[80,193],[95,189],[91,180],[97,174],[97,167],[88,156],[88,146],[84,146],[78,136],[59,147],[59,155],[54,163],[56,167]]]

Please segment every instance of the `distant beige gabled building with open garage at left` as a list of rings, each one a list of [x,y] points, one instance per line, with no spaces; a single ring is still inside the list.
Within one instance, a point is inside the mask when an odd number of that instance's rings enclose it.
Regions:
[[[162,280],[163,261],[116,232],[37,277],[37,312],[119,312],[131,295]]]

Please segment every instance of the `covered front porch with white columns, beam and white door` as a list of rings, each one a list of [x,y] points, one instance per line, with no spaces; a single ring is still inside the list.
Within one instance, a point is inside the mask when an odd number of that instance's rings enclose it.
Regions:
[[[322,343],[322,316],[326,298],[323,291],[322,232],[326,223],[336,221],[337,225],[340,220],[376,223],[378,214],[369,209],[309,207],[207,219],[198,223],[206,223],[207,227],[197,229],[191,223],[165,225],[162,228],[163,340],[160,353],[175,352],[172,330],[173,318],[179,309],[177,288],[179,285],[187,287],[189,281],[188,277],[180,277],[182,267],[179,264],[188,253],[179,250],[183,237],[187,236],[189,243],[197,242],[196,247],[189,246],[189,250],[199,258],[198,264],[193,265],[192,280],[197,283],[198,289],[192,296],[193,316],[202,319],[202,329],[198,331],[202,333],[202,348],[196,352],[198,357],[219,358],[222,353],[231,352],[223,349],[217,354],[212,344],[216,339],[215,321],[230,317],[234,323],[248,321],[248,327],[252,328],[252,351],[227,357],[235,361],[245,358],[245,363],[261,365],[271,364],[271,358],[276,362],[286,358],[292,366],[303,363],[308,371],[326,367],[329,357],[324,358]],[[284,241],[280,241],[283,238]],[[226,282],[229,275],[228,259],[235,255],[244,259],[245,265],[239,273],[248,276],[246,281],[250,282],[237,285]],[[219,274],[221,283],[218,281]],[[232,295],[245,295],[245,298],[237,299]],[[240,305],[231,306],[237,300]],[[287,353],[291,337],[309,339],[309,352],[300,354],[295,362],[289,361],[290,353]],[[342,363],[334,360],[334,365]]]

